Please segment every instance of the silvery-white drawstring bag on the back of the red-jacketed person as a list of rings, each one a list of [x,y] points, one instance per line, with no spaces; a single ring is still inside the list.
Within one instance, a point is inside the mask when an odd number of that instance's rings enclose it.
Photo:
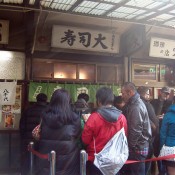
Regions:
[[[118,131],[98,153],[94,165],[103,175],[115,175],[128,159],[128,142],[124,128]]]

